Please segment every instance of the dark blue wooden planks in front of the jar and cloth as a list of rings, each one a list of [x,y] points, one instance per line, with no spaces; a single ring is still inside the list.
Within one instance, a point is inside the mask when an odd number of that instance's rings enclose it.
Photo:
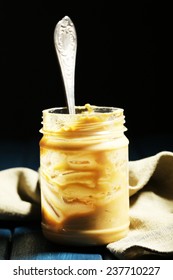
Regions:
[[[106,260],[115,258],[106,249],[106,246],[61,246],[47,240],[38,224],[12,224],[8,226],[7,223],[1,222],[0,260]]]

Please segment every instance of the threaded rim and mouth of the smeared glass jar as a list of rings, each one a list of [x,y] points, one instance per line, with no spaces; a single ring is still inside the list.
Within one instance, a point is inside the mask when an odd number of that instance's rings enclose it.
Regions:
[[[76,113],[69,114],[67,107],[43,110],[42,133],[61,133],[72,136],[93,132],[105,134],[110,130],[125,131],[124,110],[117,107],[104,107],[86,104],[75,106]]]

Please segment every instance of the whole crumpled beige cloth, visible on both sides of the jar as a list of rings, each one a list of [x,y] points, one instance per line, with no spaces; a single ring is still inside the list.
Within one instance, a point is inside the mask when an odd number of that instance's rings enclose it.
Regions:
[[[130,231],[107,245],[122,259],[173,254],[173,153],[129,162]],[[0,220],[40,220],[38,172],[0,171]]]

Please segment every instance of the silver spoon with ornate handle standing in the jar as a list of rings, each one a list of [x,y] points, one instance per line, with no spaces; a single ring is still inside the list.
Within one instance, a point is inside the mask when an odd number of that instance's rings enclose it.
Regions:
[[[64,80],[69,114],[75,114],[74,77],[77,36],[73,22],[65,16],[55,26],[54,44]]]

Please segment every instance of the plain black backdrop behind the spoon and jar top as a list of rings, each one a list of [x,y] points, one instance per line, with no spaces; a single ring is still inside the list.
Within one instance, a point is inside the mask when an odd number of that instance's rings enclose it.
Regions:
[[[65,15],[78,38],[76,105],[124,108],[130,139],[172,133],[169,7],[139,2],[1,1],[1,139],[41,137],[42,110],[66,105],[53,42]]]

